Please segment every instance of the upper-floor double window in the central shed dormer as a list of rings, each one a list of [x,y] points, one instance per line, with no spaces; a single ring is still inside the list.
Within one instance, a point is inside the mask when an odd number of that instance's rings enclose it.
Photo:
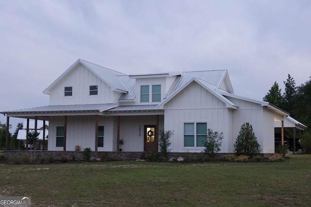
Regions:
[[[149,103],[161,102],[161,85],[141,85],[140,86],[140,102]]]

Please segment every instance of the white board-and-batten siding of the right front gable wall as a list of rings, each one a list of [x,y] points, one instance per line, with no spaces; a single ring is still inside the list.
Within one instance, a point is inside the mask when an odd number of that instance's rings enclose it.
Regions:
[[[173,131],[172,152],[202,152],[204,147],[184,147],[184,123],[207,122],[207,128],[223,132],[221,152],[228,151],[230,111],[225,103],[196,82],[166,103],[164,128]]]

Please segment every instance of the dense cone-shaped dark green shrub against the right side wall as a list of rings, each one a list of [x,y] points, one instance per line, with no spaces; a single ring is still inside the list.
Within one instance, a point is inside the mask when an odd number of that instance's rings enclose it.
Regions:
[[[253,131],[252,125],[248,122],[241,126],[240,133],[234,144],[234,151],[239,155],[246,155],[253,157],[260,153],[260,144]]]

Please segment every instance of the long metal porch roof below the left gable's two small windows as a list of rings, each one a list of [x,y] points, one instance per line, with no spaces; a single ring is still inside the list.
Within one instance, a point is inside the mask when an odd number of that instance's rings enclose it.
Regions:
[[[42,106],[29,109],[20,109],[14,111],[2,111],[9,117],[17,118],[33,118],[38,116],[38,119],[48,120],[49,116],[60,115],[97,115],[103,111],[112,109],[118,106],[117,104],[84,104],[84,105],[52,105]]]

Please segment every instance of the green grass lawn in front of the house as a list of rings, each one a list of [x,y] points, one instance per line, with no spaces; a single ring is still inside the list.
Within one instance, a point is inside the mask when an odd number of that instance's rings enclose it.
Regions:
[[[311,155],[284,162],[0,165],[0,196],[33,206],[310,206]]]

